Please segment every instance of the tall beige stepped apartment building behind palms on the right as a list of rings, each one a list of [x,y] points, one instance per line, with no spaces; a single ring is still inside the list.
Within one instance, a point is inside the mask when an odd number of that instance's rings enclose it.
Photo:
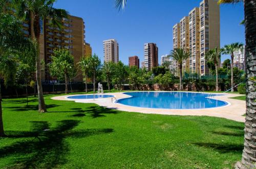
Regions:
[[[205,53],[215,47],[220,49],[219,5],[215,0],[204,0],[199,8],[194,8],[180,20],[179,27],[177,25],[173,27],[173,47],[179,46],[190,53],[190,57],[183,62],[183,73],[209,74]],[[172,67],[177,70],[176,61]]]

